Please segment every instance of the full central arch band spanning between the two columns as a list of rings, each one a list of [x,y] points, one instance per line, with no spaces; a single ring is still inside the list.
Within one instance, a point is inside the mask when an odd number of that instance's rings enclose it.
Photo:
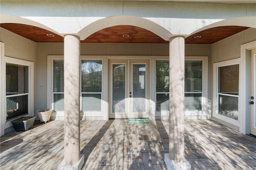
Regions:
[[[82,30],[80,30],[78,32],[78,36],[80,36],[81,40],[84,40],[88,36],[99,30],[119,25],[130,25],[144,28],[160,36],[162,39],[166,41],[169,41],[170,37],[173,36],[168,30],[166,30],[162,26],[150,20],[136,16],[112,16],[97,20],[96,22],[93,22],[88,26],[84,27]]]

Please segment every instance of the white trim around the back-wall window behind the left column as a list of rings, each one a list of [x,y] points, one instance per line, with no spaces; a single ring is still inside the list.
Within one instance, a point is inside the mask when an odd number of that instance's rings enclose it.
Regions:
[[[53,109],[53,60],[55,59],[64,59],[64,55],[48,55],[47,56],[47,108]],[[108,114],[105,114],[103,111],[108,110],[108,93],[104,93],[108,90],[108,68],[106,56],[87,56],[80,55],[80,61],[82,60],[102,60],[102,109],[101,111],[82,111],[82,105],[80,105],[80,117],[103,117],[104,120],[108,119]],[[65,62],[65,61],[64,61]],[[82,63],[82,62],[81,62]],[[81,82],[81,76],[80,76]],[[80,87],[80,103],[82,103],[82,92]],[[52,117],[55,117],[56,120],[64,119],[64,111],[56,111],[52,113]]]

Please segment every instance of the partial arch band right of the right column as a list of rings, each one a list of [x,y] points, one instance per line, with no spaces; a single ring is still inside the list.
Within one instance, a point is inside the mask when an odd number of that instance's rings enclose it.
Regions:
[[[200,28],[200,29],[192,32],[191,34],[189,34],[186,37],[189,37],[193,34],[201,32],[203,30],[220,27],[220,26],[244,26],[244,27],[256,28],[255,21],[256,21],[256,17],[239,17],[239,18],[231,18],[231,19],[227,19],[227,20],[222,20],[222,21],[210,24],[208,26],[205,26],[203,28]]]

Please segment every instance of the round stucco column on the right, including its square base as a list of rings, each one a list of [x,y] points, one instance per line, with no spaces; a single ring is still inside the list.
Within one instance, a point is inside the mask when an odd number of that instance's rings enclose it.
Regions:
[[[164,161],[168,169],[175,170],[191,169],[184,158],[184,65],[184,38],[170,38],[169,153]]]

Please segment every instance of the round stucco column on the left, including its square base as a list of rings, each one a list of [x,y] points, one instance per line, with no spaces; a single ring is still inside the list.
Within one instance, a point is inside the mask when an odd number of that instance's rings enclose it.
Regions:
[[[64,160],[58,169],[81,169],[80,156],[80,38],[64,37]]]

